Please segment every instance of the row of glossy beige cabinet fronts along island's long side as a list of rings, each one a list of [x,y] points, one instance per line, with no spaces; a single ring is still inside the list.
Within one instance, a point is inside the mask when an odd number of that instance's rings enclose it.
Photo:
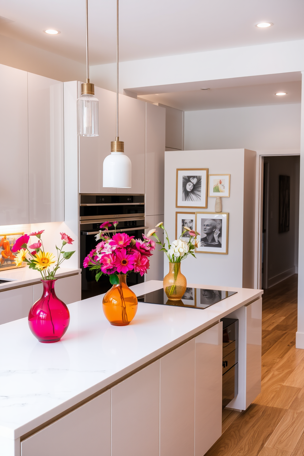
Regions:
[[[222,431],[222,322],[21,441],[21,456],[203,456]]]

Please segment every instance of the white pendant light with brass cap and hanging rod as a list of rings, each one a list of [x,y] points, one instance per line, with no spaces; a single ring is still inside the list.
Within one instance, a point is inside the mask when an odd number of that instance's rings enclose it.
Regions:
[[[116,140],[111,141],[111,155],[103,160],[103,187],[130,188],[132,164],[124,155],[124,142],[118,135],[118,0],[116,0]]]

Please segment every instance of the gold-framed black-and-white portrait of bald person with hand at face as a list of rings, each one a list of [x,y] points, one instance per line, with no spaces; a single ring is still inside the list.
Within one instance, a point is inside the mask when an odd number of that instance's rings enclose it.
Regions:
[[[227,212],[196,212],[196,231],[201,233],[196,253],[228,254]]]

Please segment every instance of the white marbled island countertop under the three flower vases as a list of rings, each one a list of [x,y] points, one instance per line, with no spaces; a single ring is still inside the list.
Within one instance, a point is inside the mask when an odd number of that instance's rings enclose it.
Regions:
[[[37,341],[26,318],[0,325],[0,435],[26,434],[263,293],[188,286],[237,294],[203,310],[139,302],[134,320],[120,327],[103,315],[103,295],[95,296],[68,306],[67,333],[51,344]],[[131,288],[139,296],[161,287],[150,280]]]

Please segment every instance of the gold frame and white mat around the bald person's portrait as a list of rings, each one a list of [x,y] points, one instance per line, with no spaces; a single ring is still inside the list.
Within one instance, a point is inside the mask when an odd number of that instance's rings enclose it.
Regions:
[[[207,215],[208,214],[208,215]],[[207,217],[205,217],[207,215]],[[209,217],[208,217],[209,216]],[[228,234],[229,234],[229,213],[228,212],[196,212],[195,213],[195,229],[202,236],[202,220],[222,220],[220,224],[220,228],[216,228],[220,230],[217,244],[209,244],[209,245],[200,245],[195,249],[195,253],[198,254],[218,254],[218,255],[227,255],[228,254]],[[213,234],[216,232],[213,232]],[[207,237],[207,236],[206,236]],[[213,236],[214,237],[214,236]],[[201,238],[202,239],[202,238]],[[209,241],[208,241],[209,243]],[[207,244],[208,244],[207,243]],[[218,245],[220,244],[220,245]]]

